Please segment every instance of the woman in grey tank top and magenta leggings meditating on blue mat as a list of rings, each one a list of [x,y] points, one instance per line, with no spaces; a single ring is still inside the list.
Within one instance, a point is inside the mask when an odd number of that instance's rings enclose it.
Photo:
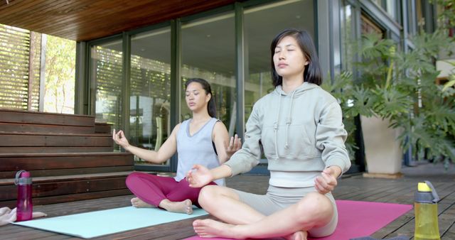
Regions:
[[[185,83],[185,99],[193,118],[178,124],[171,136],[159,151],[149,151],[129,145],[123,131],[112,133],[115,143],[150,163],[161,164],[178,153],[178,166],[175,178],[131,173],[127,187],[134,197],[134,207],[161,207],[169,212],[191,214],[193,204],[199,207],[200,188],[188,186],[185,175],[198,163],[206,168],[215,168],[240,149],[240,139],[229,139],[225,125],[215,118],[215,99],[210,84],[200,78],[192,78]],[[225,185],[224,179],[208,182],[209,185]]]

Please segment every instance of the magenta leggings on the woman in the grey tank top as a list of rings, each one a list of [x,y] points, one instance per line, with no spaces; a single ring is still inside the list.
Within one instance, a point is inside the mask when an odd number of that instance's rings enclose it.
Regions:
[[[210,182],[209,185],[214,185]],[[200,207],[198,196],[200,188],[190,187],[186,179],[177,182],[171,177],[160,177],[148,173],[131,173],[127,178],[127,187],[140,200],[159,207],[159,203],[165,199],[172,202],[191,200]]]

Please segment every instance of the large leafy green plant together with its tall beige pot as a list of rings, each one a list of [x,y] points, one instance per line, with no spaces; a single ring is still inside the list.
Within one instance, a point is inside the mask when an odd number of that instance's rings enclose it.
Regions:
[[[361,116],[366,176],[400,177],[410,147],[413,156],[455,159],[455,106],[447,100],[454,91],[436,84],[434,65],[439,51],[454,49],[453,43],[440,32],[416,36],[413,43],[405,53],[380,35],[363,36],[355,44],[355,74],[343,72],[326,87],[340,99],[346,122]]]

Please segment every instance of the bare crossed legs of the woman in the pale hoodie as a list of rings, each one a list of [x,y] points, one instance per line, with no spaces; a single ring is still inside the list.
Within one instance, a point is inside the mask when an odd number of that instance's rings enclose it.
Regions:
[[[196,233],[207,238],[247,239],[285,236],[287,239],[306,239],[307,231],[325,226],[333,217],[331,201],[317,192],[311,192],[296,204],[269,216],[264,216],[240,202],[239,196],[228,187],[204,187],[200,192],[199,202],[207,212],[228,223],[212,219],[193,222]]]

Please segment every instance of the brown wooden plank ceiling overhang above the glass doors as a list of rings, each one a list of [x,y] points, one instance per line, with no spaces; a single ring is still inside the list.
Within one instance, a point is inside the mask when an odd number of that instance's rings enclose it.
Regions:
[[[233,2],[235,0],[0,0],[0,23],[86,41]]]

